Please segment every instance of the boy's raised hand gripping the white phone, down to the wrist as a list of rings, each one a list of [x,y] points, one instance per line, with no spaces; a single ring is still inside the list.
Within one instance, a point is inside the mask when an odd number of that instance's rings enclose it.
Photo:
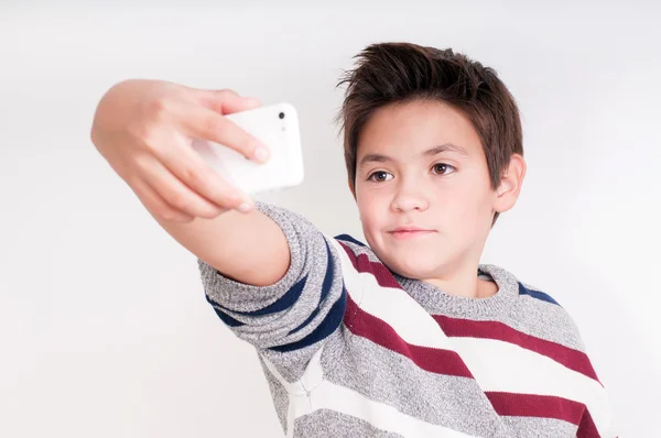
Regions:
[[[257,108],[231,90],[131,79],[100,100],[91,141],[159,221],[188,222],[252,201],[216,174],[192,147],[192,139],[221,143],[263,163],[269,151],[224,114]]]

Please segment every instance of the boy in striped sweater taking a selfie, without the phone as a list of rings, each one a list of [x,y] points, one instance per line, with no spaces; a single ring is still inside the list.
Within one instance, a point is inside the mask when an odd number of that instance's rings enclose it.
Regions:
[[[127,81],[101,99],[91,133],[197,255],[207,300],[259,353],[285,435],[614,437],[566,311],[479,264],[525,175],[518,108],[496,73],[452,50],[387,43],[340,84],[366,243],[252,205],[191,152],[202,136],[267,160],[221,117],[254,100]]]

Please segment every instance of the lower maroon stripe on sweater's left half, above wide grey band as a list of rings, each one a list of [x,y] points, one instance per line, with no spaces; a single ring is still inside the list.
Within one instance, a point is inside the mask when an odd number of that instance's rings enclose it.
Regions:
[[[458,377],[473,377],[455,351],[408,343],[383,320],[362,310],[347,294],[344,322],[356,336],[411,359],[422,370]]]

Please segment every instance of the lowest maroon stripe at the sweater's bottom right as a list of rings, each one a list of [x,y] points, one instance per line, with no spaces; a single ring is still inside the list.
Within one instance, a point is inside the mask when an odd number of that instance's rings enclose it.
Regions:
[[[583,403],[550,395],[485,392],[498,415],[562,419],[578,426],[577,438],[599,438]]]

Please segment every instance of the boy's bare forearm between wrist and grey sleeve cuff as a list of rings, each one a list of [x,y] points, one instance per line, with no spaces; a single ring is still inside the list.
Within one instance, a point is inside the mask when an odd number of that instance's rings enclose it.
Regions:
[[[159,223],[188,251],[237,282],[268,286],[290,265],[284,232],[267,215],[227,211],[215,219]]]

